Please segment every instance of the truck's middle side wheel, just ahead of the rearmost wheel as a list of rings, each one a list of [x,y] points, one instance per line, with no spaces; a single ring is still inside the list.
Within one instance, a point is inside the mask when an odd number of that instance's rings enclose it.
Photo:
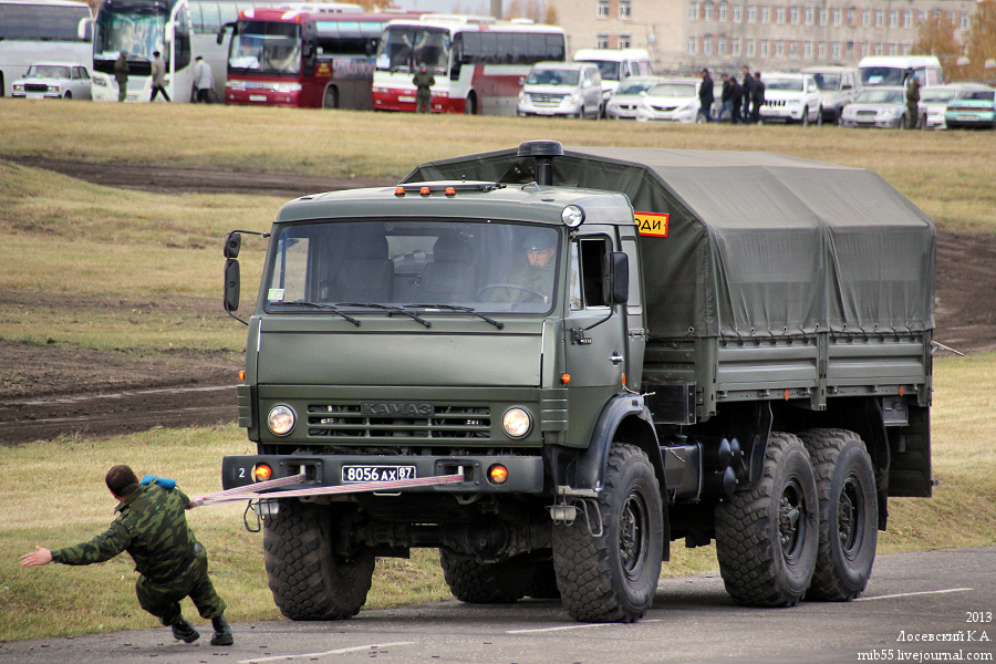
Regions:
[[[809,453],[772,433],[761,477],[716,508],[716,553],[726,592],[747,606],[793,606],[812,580],[819,501]]]

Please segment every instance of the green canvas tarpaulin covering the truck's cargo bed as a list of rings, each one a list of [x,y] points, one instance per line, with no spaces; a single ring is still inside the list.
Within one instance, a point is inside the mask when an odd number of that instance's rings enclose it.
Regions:
[[[670,215],[640,250],[653,336],[920,332],[934,326],[933,222],[881,176],[764,152],[564,147],[556,186]],[[403,181],[526,184],[517,148],[422,164]]]

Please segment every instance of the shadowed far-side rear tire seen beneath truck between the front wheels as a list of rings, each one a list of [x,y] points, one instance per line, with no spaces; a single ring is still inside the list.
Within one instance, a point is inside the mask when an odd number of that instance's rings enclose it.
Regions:
[[[536,562],[517,556],[501,562],[480,562],[439,549],[443,578],[453,596],[468,604],[510,604],[526,596]]]

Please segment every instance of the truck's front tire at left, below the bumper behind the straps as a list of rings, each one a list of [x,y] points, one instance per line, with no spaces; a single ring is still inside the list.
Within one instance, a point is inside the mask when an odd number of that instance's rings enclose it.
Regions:
[[[349,562],[332,554],[334,516],[325,506],[281,500],[263,529],[267,579],[273,601],[291,620],[343,620],[366,602],[374,556]]]

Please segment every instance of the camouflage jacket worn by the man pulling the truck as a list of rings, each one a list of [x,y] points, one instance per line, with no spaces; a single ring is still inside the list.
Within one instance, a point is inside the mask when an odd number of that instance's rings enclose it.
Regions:
[[[166,581],[194,558],[197,540],[184,513],[190,499],[177,488],[139,486],[121,501],[117,518],[89,542],[52,551],[63,564],[92,564],[127,551],[135,570],[154,581]]]

